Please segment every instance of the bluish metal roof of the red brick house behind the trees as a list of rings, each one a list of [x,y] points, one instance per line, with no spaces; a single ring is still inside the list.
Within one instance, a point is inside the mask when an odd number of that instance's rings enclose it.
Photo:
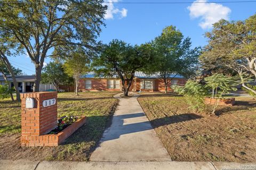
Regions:
[[[141,71],[137,71],[135,72],[134,74],[134,77],[136,78],[140,78],[140,79],[157,79],[158,77],[154,74],[154,75],[147,75]],[[175,74],[172,74],[170,78],[180,78],[180,79],[183,79],[184,77],[182,75],[175,75]],[[94,72],[89,72],[88,74],[84,74],[81,76],[81,78],[88,78],[88,79],[93,79],[93,78],[105,78],[103,76],[100,76],[100,77],[95,77],[95,73]],[[117,76],[113,76],[111,78],[117,78]]]

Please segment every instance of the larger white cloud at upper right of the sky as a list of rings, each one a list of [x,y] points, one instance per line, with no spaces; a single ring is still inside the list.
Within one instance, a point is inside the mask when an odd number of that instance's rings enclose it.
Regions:
[[[207,0],[197,0],[195,2],[207,2]],[[228,20],[231,12],[230,8],[217,3],[193,3],[188,6],[191,18],[201,18],[199,26],[202,29],[212,28],[212,24],[221,19]]]

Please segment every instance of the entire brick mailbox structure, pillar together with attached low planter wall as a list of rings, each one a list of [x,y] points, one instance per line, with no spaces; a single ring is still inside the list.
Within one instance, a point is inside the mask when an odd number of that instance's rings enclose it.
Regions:
[[[26,98],[33,98],[34,108],[26,108]],[[56,99],[56,103],[43,107],[43,101]],[[57,92],[21,94],[21,146],[58,146],[86,121],[81,116],[58,134],[47,134],[57,127]]]

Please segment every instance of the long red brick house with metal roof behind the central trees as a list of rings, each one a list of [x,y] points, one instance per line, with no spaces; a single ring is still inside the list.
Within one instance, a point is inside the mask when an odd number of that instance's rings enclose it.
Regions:
[[[172,80],[168,84],[168,91],[173,91],[171,85],[184,85],[187,81],[181,75],[172,75]],[[114,78],[97,78],[93,72],[90,72],[81,77],[79,80],[79,90],[81,91],[122,91],[121,80]],[[165,86],[162,80],[159,80],[156,75],[146,75],[143,72],[135,72],[131,91],[164,91]]]

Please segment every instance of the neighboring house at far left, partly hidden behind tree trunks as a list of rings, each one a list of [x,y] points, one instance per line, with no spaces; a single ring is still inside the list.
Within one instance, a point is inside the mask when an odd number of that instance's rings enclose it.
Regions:
[[[33,86],[35,82],[35,76],[34,75],[16,75],[15,76],[18,87],[20,92],[32,92]],[[12,77],[10,75],[7,75],[7,80],[9,82],[9,87],[13,87],[13,81]],[[0,75],[0,84],[4,85],[5,80],[2,75]],[[40,84],[40,91],[47,91],[50,89],[54,89],[53,84]]]

